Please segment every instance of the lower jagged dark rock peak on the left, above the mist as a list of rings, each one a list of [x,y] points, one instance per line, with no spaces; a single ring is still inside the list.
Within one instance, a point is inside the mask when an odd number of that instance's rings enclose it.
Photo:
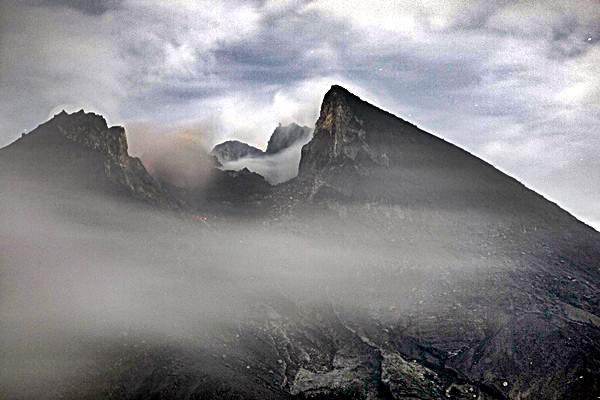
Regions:
[[[4,172],[43,176],[49,183],[177,207],[141,161],[129,156],[125,130],[108,127],[94,113],[62,111],[1,152]]]

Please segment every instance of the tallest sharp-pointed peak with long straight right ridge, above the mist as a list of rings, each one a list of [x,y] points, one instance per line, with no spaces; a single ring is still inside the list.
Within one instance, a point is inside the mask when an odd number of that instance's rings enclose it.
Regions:
[[[566,215],[486,162],[340,86],[325,95],[299,180],[310,185],[311,199]]]

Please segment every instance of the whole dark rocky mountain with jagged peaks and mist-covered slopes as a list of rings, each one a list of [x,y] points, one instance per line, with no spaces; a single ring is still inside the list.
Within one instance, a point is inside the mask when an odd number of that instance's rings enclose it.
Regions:
[[[125,197],[156,187],[135,190],[127,182],[139,180],[113,178],[132,174],[134,161],[108,145],[112,131],[99,117],[83,125],[63,118],[70,120],[58,116],[0,151],[12,168],[3,184],[35,182],[19,199],[56,202],[70,195],[74,186],[63,183],[73,180]],[[39,182],[58,189],[42,197]],[[24,232],[19,223],[0,227],[9,244],[1,259],[7,345],[0,367],[11,377],[0,394],[600,396],[598,232],[339,86],[324,98],[296,179],[271,187],[249,171],[218,171],[209,188],[171,193],[208,212],[168,218],[102,197],[90,224],[94,207],[76,198],[65,203],[84,208],[74,233],[62,214],[49,225],[61,234],[42,241],[31,237],[45,232],[36,218]],[[10,192],[0,195],[1,215],[33,211],[14,207]],[[32,294],[43,299],[31,306],[35,323],[24,317]],[[48,338],[49,326],[58,339]],[[30,350],[43,345],[50,350]],[[46,377],[34,376],[38,370],[57,369],[44,368],[56,365],[44,358],[53,351],[86,374],[62,386],[35,379]],[[30,387],[36,395],[22,395]]]

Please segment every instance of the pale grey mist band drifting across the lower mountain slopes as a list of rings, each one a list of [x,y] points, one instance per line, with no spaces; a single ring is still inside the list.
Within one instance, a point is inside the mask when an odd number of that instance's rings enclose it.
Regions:
[[[97,395],[124,379],[116,371],[137,349],[148,349],[146,360],[169,346],[243,360],[244,349],[223,346],[261,306],[335,304],[358,316],[421,300],[421,311],[437,309],[422,299],[453,281],[472,285],[492,265],[449,251],[445,228],[432,243],[406,225],[410,240],[392,243],[365,234],[364,221],[324,215],[308,217],[308,230],[292,220],[202,221],[78,189],[57,198],[51,185],[18,178],[0,196],[0,393],[23,398]]]

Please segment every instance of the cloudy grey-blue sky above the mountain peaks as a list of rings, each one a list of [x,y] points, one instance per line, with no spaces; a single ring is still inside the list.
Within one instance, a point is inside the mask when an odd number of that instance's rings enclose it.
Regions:
[[[600,2],[0,0],[0,146],[62,109],[207,148],[341,84],[600,229]]]

